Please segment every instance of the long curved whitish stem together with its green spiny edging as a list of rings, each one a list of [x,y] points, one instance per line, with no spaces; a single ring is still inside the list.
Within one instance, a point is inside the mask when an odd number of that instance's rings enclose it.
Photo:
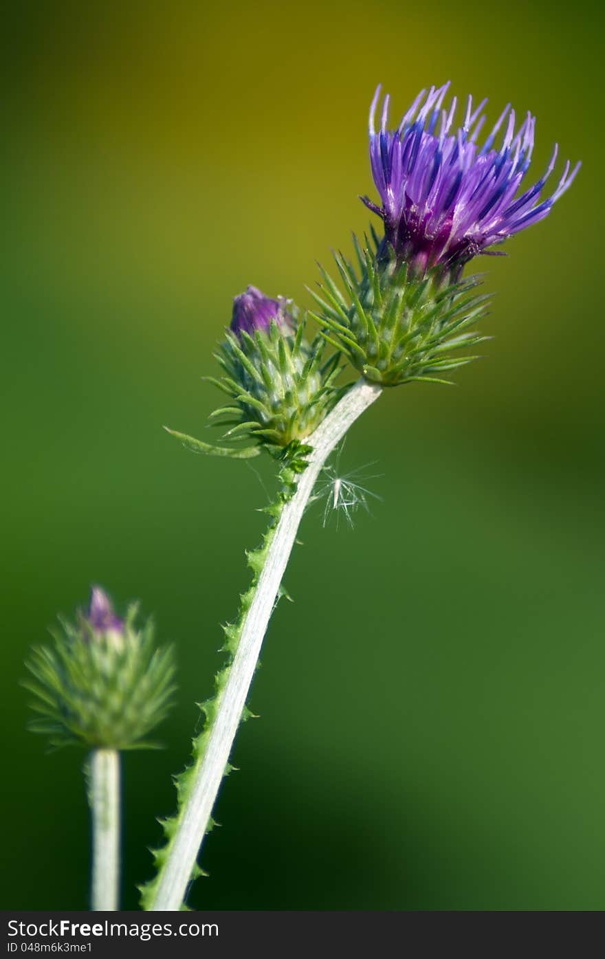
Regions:
[[[196,864],[198,849],[212,826],[212,808],[222,777],[229,770],[229,754],[268,620],[315,479],[349,427],[381,392],[381,386],[364,380],[353,386],[306,441],[312,452],[295,486],[293,474],[282,477],[287,492],[269,509],[272,523],[262,548],[248,554],[254,572],[252,586],[242,597],[239,623],[226,629],[226,649],[232,659],[217,677],[215,698],[203,706],[207,721],[201,736],[194,740],[194,764],[177,778],[178,812],[175,819],[164,823],[169,841],[155,853],[157,877],[142,889],[145,909],[178,909],[188,882],[201,872]]]

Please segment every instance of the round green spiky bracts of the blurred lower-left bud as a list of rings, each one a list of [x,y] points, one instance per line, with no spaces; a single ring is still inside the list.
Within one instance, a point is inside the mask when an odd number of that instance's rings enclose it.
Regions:
[[[59,620],[53,645],[32,650],[26,667],[37,713],[30,723],[52,746],[146,749],[146,739],[169,712],[175,691],[172,646],[157,648],[153,624],[135,625],[136,604],[124,626],[94,629],[82,614],[76,623]]]

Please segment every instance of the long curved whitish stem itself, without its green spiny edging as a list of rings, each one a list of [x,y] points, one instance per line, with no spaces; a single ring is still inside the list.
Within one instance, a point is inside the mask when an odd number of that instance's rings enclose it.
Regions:
[[[184,806],[175,823],[167,856],[163,862],[159,860],[160,873],[154,883],[154,895],[148,908],[175,910],[183,901],[244,712],[268,620],[315,480],[349,427],[364,409],[378,399],[381,392],[381,386],[360,380],[306,441],[313,447],[309,465],[299,477],[291,499],[283,505],[277,526],[268,540],[265,563],[245,615],[240,642],[226,682],[216,701],[216,713],[203,756],[194,767],[193,782],[187,789]]]

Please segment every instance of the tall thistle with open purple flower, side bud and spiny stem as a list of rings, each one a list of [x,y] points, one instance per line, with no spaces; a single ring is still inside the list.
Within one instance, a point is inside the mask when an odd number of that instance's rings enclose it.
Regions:
[[[541,199],[553,170],[519,196],[534,142],[535,119],[516,129],[507,106],[478,146],[485,101],[469,98],[462,125],[454,129],[456,101],[444,102],[449,84],[423,91],[396,129],[388,128],[388,97],[380,129],[375,126],[381,88],[370,108],[372,175],[381,203],[364,198],[383,222],[379,235],[355,238],[357,267],[336,256],[339,283],[321,269],[317,308],[311,316],[320,339],[304,339],[304,324],[290,301],[271,299],[253,287],[236,297],[231,328],[215,380],[232,401],[212,419],[226,421],[224,439],[244,439],[243,448],[212,447],[183,433],[185,445],[221,456],[256,456],[263,449],[281,460],[280,492],[268,507],[268,532],[247,554],[252,583],[240,616],[224,629],[226,655],[215,695],[202,705],[205,726],[194,739],[193,762],[177,777],[178,808],[164,821],[166,845],[155,852],[157,875],[143,887],[147,909],[176,909],[192,877],[200,874],[198,849],[212,827],[212,809],[240,721],[268,620],[298,525],[316,479],[337,443],[386,386],[413,381],[450,382],[443,374],[470,363],[468,353],[486,339],[477,333],[488,297],[480,278],[463,276],[468,263],[524,227],[547,216],[570,187],[578,166],[565,167],[558,186]],[[503,129],[500,146],[497,139]],[[332,355],[323,360],[323,345]],[[462,351],[462,353],[460,353]],[[341,363],[361,373],[353,386],[338,387]]]

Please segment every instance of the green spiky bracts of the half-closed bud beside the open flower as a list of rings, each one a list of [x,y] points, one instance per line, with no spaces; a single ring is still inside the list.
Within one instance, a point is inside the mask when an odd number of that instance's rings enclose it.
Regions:
[[[228,427],[224,438],[252,439],[269,452],[300,441],[335,406],[341,388],[335,386],[338,355],[324,362],[325,340],[305,339],[305,320],[292,326],[271,321],[267,329],[250,336],[227,330],[216,359],[220,380],[208,378],[226,393],[231,404],[211,419]]]

